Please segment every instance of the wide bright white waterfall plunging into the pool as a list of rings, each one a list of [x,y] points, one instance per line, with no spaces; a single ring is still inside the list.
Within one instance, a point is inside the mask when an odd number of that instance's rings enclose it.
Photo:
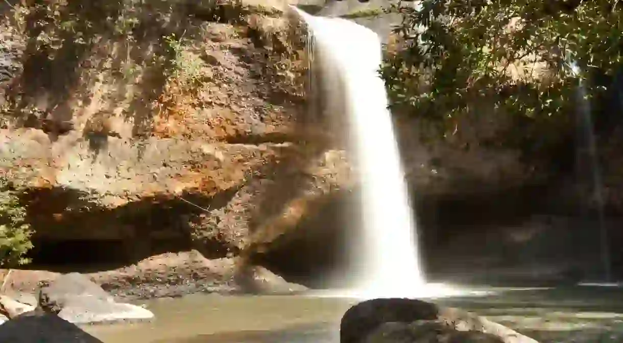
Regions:
[[[321,60],[326,97],[340,97],[339,105],[329,102],[330,110],[347,116],[346,132],[361,173],[363,239],[353,252],[363,268],[357,269],[356,288],[366,297],[420,295],[424,277],[416,226],[386,90],[378,75],[381,41],[354,22],[297,11],[312,32],[313,56]]]

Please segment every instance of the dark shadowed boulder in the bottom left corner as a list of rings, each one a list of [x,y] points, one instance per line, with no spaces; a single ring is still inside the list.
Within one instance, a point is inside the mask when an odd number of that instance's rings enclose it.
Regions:
[[[103,343],[55,314],[23,314],[0,325],[0,342]]]

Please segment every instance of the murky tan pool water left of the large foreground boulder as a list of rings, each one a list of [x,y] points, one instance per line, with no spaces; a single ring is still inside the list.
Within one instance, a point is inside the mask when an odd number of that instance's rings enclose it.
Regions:
[[[86,331],[104,343],[322,342],[320,336],[335,342],[341,316],[354,303],[305,296],[193,295],[146,302],[156,316],[153,322]]]

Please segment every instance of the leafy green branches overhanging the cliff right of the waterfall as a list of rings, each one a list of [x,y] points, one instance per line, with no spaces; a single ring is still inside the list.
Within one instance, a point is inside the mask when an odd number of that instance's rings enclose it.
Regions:
[[[443,132],[485,99],[533,120],[569,117],[579,82],[594,99],[604,91],[594,78],[621,68],[618,1],[412,3],[389,9],[403,20],[381,77],[392,106],[439,123]]]

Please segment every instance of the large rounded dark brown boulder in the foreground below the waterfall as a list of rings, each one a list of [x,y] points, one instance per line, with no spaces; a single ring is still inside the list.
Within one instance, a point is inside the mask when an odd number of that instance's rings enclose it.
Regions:
[[[538,343],[470,312],[416,299],[373,299],[346,311],[340,343]]]

